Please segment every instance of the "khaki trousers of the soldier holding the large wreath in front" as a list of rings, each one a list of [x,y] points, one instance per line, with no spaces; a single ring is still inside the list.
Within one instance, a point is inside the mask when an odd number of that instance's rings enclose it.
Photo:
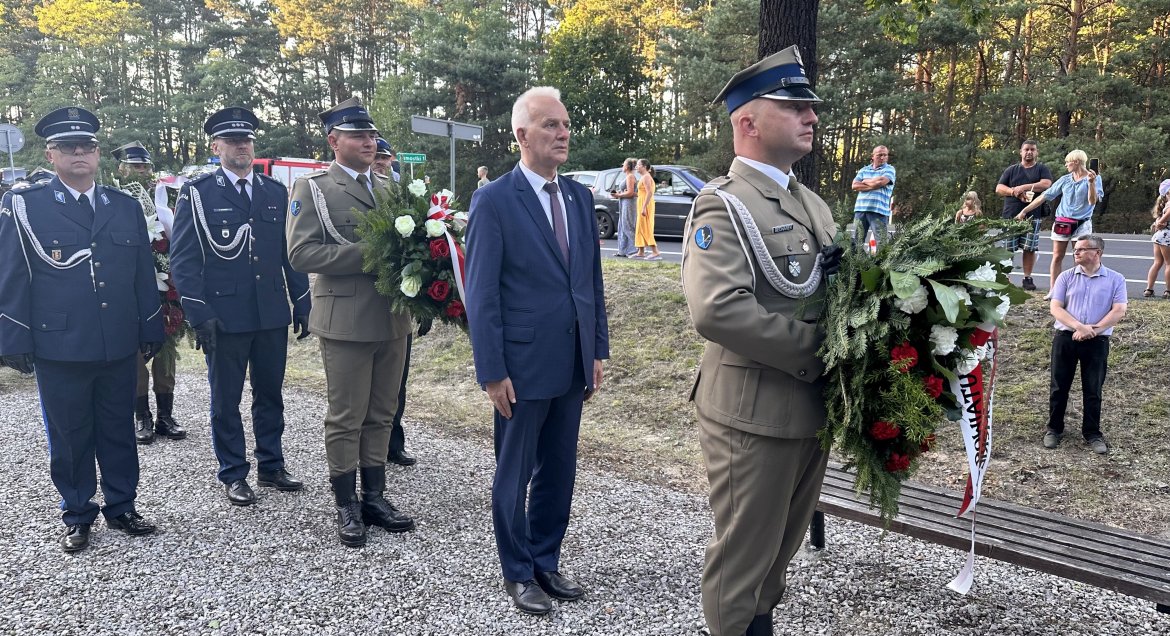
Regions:
[[[715,537],[703,562],[711,636],[742,636],[784,595],[789,561],[804,542],[828,454],[817,438],[782,440],[698,416]]]

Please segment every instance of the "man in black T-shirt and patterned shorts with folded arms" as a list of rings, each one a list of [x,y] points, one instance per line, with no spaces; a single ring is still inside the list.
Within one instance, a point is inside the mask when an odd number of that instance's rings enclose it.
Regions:
[[[1004,198],[1004,219],[1017,217],[1020,210],[1031,203],[1037,194],[1042,193],[1052,186],[1052,171],[1048,170],[1048,166],[1037,161],[1039,154],[1040,151],[1035,140],[1025,139],[1020,144],[1019,164],[1007,166],[1007,170],[999,177],[999,184],[996,185],[996,194]],[[1035,255],[1040,249],[1040,223],[1044,220],[1046,210],[1047,206],[1045,205],[1032,210],[1028,217],[1032,224],[1031,229],[1024,236],[1007,241],[1006,244],[1007,249],[1012,251],[1023,250],[1024,253],[1020,257],[1024,267],[1024,281],[1020,283],[1020,286],[1028,291],[1035,291],[1032,269],[1035,267]],[[1048,283],[1052,283],[1051,278]]]

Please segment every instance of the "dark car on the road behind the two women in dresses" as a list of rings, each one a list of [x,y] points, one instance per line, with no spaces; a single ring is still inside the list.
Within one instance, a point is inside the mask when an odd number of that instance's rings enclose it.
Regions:
[[[574,174],[566,177],[576,179]],[[603,170],[596,175],[590,171],[590,177],[598,233],[601,238],[613,238],[618,230],[618,199],[613,193],[621,187],[621,168]],[[710,180],[710,175],[695,167],[654,166],[654,235],[682,237],[690,203]]]

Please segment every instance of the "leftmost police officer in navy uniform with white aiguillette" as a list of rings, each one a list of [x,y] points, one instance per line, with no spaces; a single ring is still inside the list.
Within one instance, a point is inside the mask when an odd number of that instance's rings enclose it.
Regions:
[[[132,422],[138,353],[161,348],[163,314],[142,206],[94,182],[99,127],[80,106],[46,115],[35,130],[57,177],[0,203],[0,357],[36,372],[66,552],[89,546],[99,510],[109,527],[154,532],[135,510]]]

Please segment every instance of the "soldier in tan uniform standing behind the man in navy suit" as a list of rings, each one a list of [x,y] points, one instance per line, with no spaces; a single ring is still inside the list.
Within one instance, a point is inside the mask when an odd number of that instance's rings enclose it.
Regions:
[[[414,528],[414,520],[384,497],[386,449],[406,360],[411,319],[390,311],[390,300],[362,270],[355,234],[373,191],[394,184],[370,170],[378,129],[365,106],[350,98],[321,113],[335,160],[296,180],[289,201],[289,262],[316,274],[309,329],[321,340],[329,413],[325,456],[344,545],[366,542],[365,525],[390,532]],[[362,499],[357,498],[358,472]]]

